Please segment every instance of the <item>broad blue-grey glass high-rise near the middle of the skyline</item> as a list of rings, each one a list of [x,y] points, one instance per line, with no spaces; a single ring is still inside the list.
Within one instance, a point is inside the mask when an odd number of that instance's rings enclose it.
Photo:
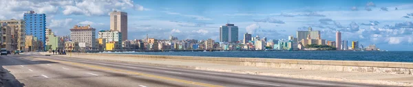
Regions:
[[[220,42],[237,42],[238,26],[226,23],[220,27]]]

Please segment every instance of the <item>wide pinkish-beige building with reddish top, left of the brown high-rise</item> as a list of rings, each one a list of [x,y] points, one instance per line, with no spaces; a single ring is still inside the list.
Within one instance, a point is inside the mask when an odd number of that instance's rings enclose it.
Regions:
[[[72,29],[70,29],[70,39],[78,42],[79,47],[85,50],[92,50],[96,47],[96,29],[87,26],[78,26],[74,25]]]

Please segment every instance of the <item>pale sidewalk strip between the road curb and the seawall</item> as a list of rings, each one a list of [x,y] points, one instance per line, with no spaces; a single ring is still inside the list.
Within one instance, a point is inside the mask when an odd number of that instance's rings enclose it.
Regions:
[[[44,53],[42,53],[44,55]],[[70,57],[67,55],[53,55]],[[274,69],[255,66],[237,66],[227,64],[210,64],[200,62],[183,62],[173,60],[142,60],[140,58],[119,57],[111,58],[96,55],[72,55],[72,58],[83,58],[88,60],[105,60],[112,62],[128,62],[147,64],[153,66],[169,66],[184,69],[196,69],[203,71],[219,71],[227,73],[242,73],[252,75],[269,75],[277,77],[293,77],[299,79],[319,79],[337,82],[355,82],[364,84],[383,84],[393,86],[413,86],[413,75],[394,75],[383,73],[357,73],[357,72],[338,72],[338,71],[310,71],[300,69]]]

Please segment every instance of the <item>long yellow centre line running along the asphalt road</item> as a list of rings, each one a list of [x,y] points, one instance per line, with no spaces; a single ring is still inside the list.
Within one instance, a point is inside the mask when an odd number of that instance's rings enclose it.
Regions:
[[[61,62],[61,63],[67,63],[67,64],[74,64],[74,65],[77,65],[77,66],[88,66],[88,67],[92,67],[92,68],[95,68],[95,69],[102,69],[102,70],[106,70],[106,71],[118,71],[118,72],[133,74],[133,75],[153,77],[153,78],[156,78],[156,79],[167,79],[167,80],[171,80],[171,81],[175,81],[175,82],[182,82],[182,83],[186,83],[186,84],[195,84],[195,85],[199,85],[199,86],[224,87],[224,86],[218,86],[218,85],[213,85],[213,84],[204,84],[204,83],[200,83],[200,82],[192,82],[192,81],[183,80],[183,79],[175,79],[175,78],[171,78],[171,77],[162,77],[162,76],[151,75],[151,74],[146,74],[146,73],[137,73],[137,72],[133,72],[133,71],[125,71],[125,70],[120,70],[120,69],[110,69],[110,68],[107,68],[107,67],[96,66],[96,65],[91,65],[91,64],[82,64],[82,63],[67,62],[67,61],[62,61],[62,60],[53,60],[53,59],[46,59],[46,58],[39,58],[39,59],[40,60],[47,60],[47,61],[51,61],[51,62]]]

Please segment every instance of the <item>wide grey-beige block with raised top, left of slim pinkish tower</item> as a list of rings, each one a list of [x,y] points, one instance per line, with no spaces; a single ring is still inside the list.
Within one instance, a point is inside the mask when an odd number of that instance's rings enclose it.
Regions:
[[[320,36],[320,31],[313,31],[312,27],[308,27],[308,31],[297,31],[297,40],[306,39],[310,35],[310,38],[317,38]]]

